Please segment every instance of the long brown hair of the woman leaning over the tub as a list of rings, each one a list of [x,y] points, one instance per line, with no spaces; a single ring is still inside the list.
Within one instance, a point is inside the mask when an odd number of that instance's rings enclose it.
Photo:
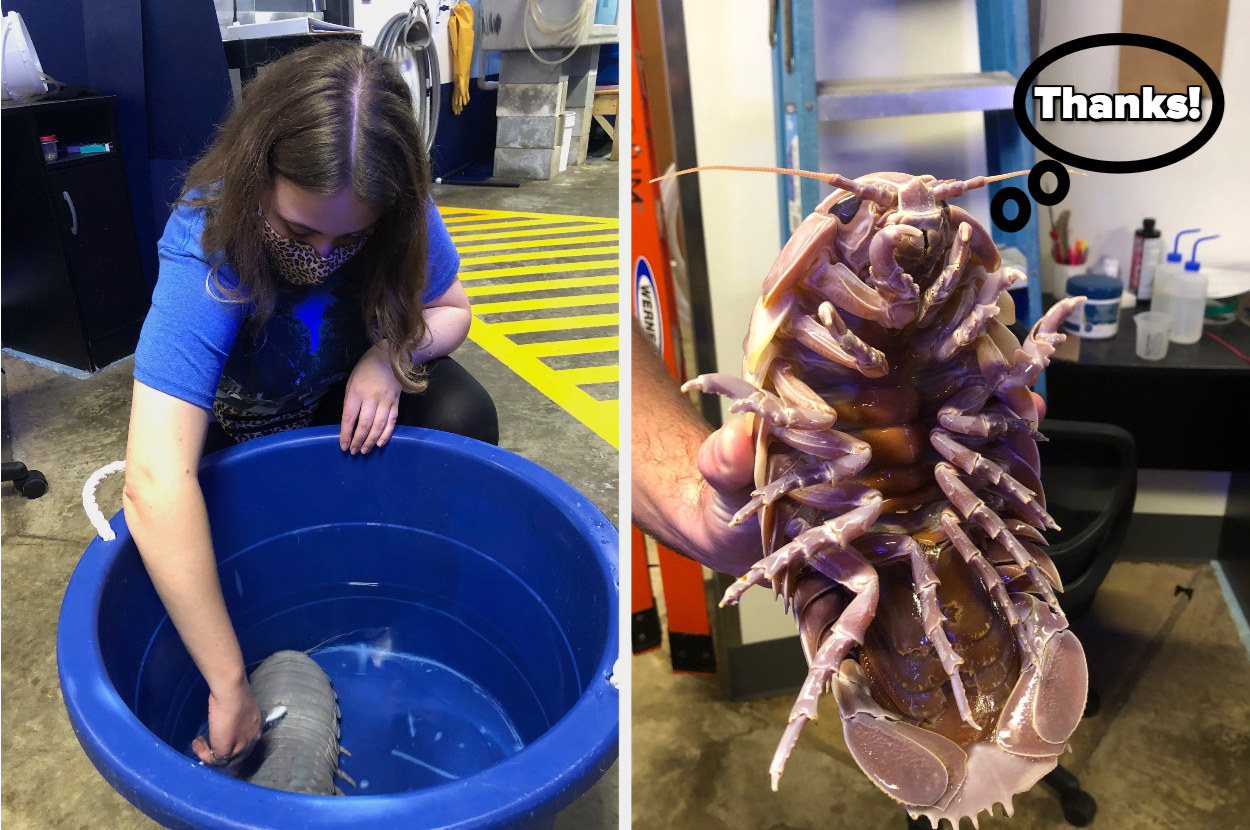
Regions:
[[[258,209],[282,176],[315,194],[350,188],[382,216],[356,254],[361,314],[385,339],[391,371],[406,391],[426,381],[411,352],[425,340],[426,210],[430,159],[399,70],[358,44],[325,42],[275,61],[244,90],[212,145],[186,174],[184,201],[208,208],[201,244],[239,275],[218,288],[249,305],[254,331],[274,312],[276,279],[265,256]],[[192,196],[192,191],[195,195]]]

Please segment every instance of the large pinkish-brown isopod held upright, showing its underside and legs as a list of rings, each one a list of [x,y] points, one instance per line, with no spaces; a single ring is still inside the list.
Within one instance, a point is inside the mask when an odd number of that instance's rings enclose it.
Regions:
[[[1008,176],[810,175],[835,190],[769,272],[745,382],[691,381],[755,416],[755,498],[734,520],[759,514],[762,558],[724,601],[768,580],[799,624],[809,671],[774,789],[831,689],[882,792],[975,822],[1055,768],[1085,705],[1039,546],[1055,522],[1029,392],[1079,301],[1022,344],[996,319],[1019,274],[946,200]]]

